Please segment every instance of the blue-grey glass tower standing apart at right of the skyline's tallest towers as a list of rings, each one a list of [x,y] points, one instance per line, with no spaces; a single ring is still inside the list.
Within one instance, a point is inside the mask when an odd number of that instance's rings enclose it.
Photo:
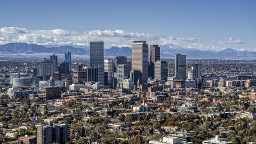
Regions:
[[[179,53],[175,54],[175,71],[174,76],[181,76],[182,80],[186,80],[186,68],[187,60],[186,55],[181,55]]]

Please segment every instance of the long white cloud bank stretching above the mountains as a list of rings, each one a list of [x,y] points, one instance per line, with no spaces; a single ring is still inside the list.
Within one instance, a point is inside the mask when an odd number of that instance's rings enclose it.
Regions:
[[[213,45],[204,45],[203,38],[193,37],[159,37],[153,34],[127,33],[124,30],[91,30],[83,34],[63,29],[28,30],[26,28],[0,28],[0,45],[7,43],[29,43],[45,46],[89,46],[90,41],[103,41],[105,47],[131,46],[133,41],[147,41],[148,44],[169,45],[175,44],[186,48],[218,49],[214,44],[244,44],[239,37],[229,37],[221,41],[210,41]],[[256,43],[256,42],[255,42]]]

